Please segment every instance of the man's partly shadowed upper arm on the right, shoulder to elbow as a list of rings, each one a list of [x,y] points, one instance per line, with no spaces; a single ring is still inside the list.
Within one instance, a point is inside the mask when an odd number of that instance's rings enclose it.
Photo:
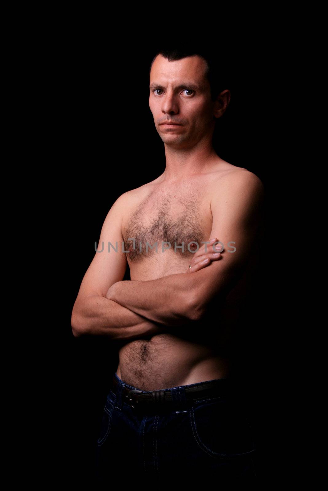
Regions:
[[[263,198],[261,180],[248,171],[232,175],[214,196],[210,238],[216,237],[224,249],[218,261],[192,273],[200,306],[229,293],[242,274],[261,222]],[[209,248],[208,251],[212,252]]]

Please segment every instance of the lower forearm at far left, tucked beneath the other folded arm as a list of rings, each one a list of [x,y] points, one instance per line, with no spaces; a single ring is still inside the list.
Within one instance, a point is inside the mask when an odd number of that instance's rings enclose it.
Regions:
[[[75,337],[98,334],[113,340],[138,339],[142,335],[157,334],[161,329],[119,303],[97,295],[76,302],[71,325]]]

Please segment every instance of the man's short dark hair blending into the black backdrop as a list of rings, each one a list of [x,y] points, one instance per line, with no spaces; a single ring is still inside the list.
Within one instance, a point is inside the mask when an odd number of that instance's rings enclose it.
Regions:
[[[217,96],[225,89],[229,88],[226,86],[226,77],[227,72],[223,65],[218,59],[218,55],[213,54],[212,51],[206,49],[195,48],[184,48],[184,47],[165,47],[164,49],[159,50],[156,55],[153,57],[150,68],[149,68],[149,76],[152,64],[156,58],[156,56],[162,55],[169,61],[175,61],[187,56],[201,56],[207,65],[206,69],[206,77],[209,81],[210,86],[210,94],[211,100],[215,101]]]

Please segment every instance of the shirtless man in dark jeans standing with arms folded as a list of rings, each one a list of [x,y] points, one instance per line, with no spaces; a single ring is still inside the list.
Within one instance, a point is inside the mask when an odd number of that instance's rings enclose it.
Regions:
[[[149,108],[166,167],[113,204],[73,307],[74,336],[106,334],[119,348],[97,441],[103,479],[118,469],[256,476],[230,355],[264,193],[213,149],[231,97],[216,83],[206,55],[154,57]]]

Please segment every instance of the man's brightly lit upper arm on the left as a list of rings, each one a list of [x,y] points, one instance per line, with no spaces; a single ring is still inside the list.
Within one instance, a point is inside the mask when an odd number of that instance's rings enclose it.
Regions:
[[[126,253],[122,252],[123,213],[124,194],[115,201],[104,220],[97,252],[83,277],[77,300],[91,295],[105,297],[109,287],[123,279],[127,265]]]

